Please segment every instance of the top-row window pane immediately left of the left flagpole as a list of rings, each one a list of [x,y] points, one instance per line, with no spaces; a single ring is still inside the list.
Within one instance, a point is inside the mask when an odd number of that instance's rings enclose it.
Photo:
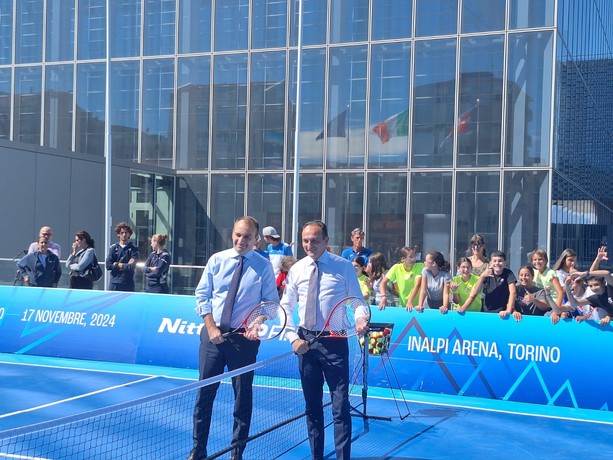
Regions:
[[[106,56],[106,0],[79,0],[78,14],[78,58],[104,58]]]

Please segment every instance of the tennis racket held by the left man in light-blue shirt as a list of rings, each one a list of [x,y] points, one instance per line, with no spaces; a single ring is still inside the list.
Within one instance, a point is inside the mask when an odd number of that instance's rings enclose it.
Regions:
[[[281,335],[287,323],[287,313],[278,302],[262,302],[251,309],[244,321],[223,338],[241,334],[251,340],[271,340]]]

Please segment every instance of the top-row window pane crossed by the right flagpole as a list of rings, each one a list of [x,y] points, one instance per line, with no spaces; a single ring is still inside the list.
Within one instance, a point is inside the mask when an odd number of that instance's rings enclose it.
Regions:
[[[291,44],[298,44],[299,0],[292,1]],[[322,45],[326,43],[328,24],[328,0],[302,0],[302,44]]]

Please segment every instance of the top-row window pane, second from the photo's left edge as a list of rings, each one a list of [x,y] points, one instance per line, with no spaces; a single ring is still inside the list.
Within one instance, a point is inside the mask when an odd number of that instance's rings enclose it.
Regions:
[[[43,6],[40,0],[17,0],[15,63],[43,60]]]

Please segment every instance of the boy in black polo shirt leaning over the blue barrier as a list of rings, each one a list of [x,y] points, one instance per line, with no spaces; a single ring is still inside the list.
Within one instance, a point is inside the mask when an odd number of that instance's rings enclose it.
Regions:
[[[515,288],[515,274],[506,268],[507,256],[502,251],[492,252],[489,267],[481,273],[479,281],[466,299],[462,310],[467,310],[477,295],[483,290],[483,306],[481,311],[498,313],[506,318],[513,313],[517,290]]]

